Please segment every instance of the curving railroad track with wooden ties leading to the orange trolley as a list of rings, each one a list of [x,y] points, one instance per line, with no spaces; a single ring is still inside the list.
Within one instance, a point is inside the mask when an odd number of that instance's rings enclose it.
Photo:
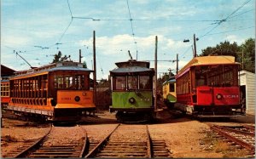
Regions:
[[[14,156],[4,156],[4,157],[11,157],[11,158],[67,158],[67,157],[83,157],[85,155],[85,150],[87,147],[87,133],[84,128],[79,127],[84,132],[83,142],[80,140],[74,139],[61,139],[58,138],[54,141],[55,137],[52,133],[54,133],[54,129],[51,127],[48,133],[44,135],[43,138],[39,139],[37,142],[34,142],[30,145],[27,145],[26,149],[24,150],[17,150],[17,154]],[[76,128],[73,129],[76,131]],[[65,132],[63,132],[65,133]],[[68,134],[67,134],[68,135]],[[66,137],[65,137],[66,138]],[[60,141],[60,142],[57,142]]]

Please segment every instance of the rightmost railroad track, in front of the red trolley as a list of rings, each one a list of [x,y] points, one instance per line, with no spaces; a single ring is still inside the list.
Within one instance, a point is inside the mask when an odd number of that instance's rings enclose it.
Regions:
[[[223,136],[225,139],[228,139],[231,142],[236,143],[236,145],[241,145],[242,147],[246,148],[247,150],[249,150],[250,154],[253,154],[255,156],[255,129],[253,130],[253,127],[227,127],[211,124],[210,128],[214,132]]]

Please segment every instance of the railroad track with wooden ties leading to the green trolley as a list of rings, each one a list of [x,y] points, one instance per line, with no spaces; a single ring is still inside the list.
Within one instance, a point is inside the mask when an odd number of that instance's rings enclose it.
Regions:
[[[133,135],[127,134],[125,139],[119,137],[119,131],[133,131]],[[125,135],[125,134],[123,134]],[[137,137],[143,137],[138,139]],[[148,132],[148,125],[144,133],[136,132],[125,128],[125,125],[118,124],[113,131],[102,139],[100,142],[93,142],[90,145],[89,153],[85,158],[154,158],[154,157],[171,157],[169,150],[166,149],[164,140],[151,139]]]

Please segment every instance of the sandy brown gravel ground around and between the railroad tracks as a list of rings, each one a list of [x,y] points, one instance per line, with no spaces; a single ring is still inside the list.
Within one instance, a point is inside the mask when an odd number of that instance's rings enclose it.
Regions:
[[[85,117],[85,122],[80,126],[86,130],[89,139],[100,141],[110,133],[113,128],[117,126],[117,122],[114,118],[114,113],[104,112],[98,114],[97,118]],[[17,127],[17,122],[20,124],[24,123],[21,121],[14,121],[9,119],[3,119],[3,128],[1,129],[1,153],[2,155],[18,148],[20,145],[19,141],[25,139],[38,139],[43,136],[49,128],[44,127]],[[220,125],[239,125],[239,123],[229,122],[214,122]],[[254,125],[254,123],[251,123]],[[129,135],[136,136],[136,133],[146,133],[145,125],[143,124],[124,124],[121,131],[118,134],[122,138],[127,138]],[[84,134],[81,128],[75,127],[58,127],[54,129],[52,136],[55,138],[55,143],[64,142],[61,139],[73,139],[79,140]],[[164,139],[166,141],[167,148],[172,152],[172,156],[175,158],[188,158],[188,157],[202,157],[202,158],[221,158],[227,157],[223,151],[207,150],[205,147],[211,147],[211,145],[202,144],[202,139],[206,137],[206,132],[209,132],[209,128],[206,122],[199,122],[197,120],[180,117],[172,118],[168,113],[159,115],[159,120],[154,123],[148,124],[148,129],[153,139]],[[13,140],[5,141],[6,136]],[[61,136],[61,139],[60,139]],[[143,136],[136,136],[137,139],[144,140]],[[4,138],[4,139],[3,139]],[[54,143],[50,143],[54,144]],[[241,153],[242,154],[242,153]],[[240,154],[230,157],[243,157]]]

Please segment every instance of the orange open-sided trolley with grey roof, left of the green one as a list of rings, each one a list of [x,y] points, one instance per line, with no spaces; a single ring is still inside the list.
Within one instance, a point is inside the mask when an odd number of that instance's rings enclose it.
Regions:
[[[9,78],[8,109],[53,121],[78,120],[96,108],[90,72],[81,63],[70,61],[15,72]]]

